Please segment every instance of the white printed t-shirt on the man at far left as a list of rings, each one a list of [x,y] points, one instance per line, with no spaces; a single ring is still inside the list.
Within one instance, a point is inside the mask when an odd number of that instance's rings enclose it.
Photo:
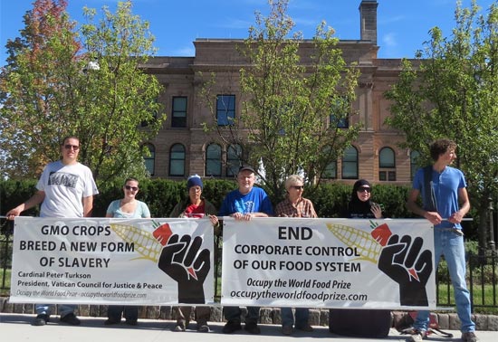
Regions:
[[[45,193],[40,217],[82,217],[82,198],[99,194],[88,166],[50,163],[36,185]]]

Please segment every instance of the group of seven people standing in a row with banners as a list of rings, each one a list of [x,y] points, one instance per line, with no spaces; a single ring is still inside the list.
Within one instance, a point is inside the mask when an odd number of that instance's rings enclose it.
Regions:
[[[466,192],[464,174],[450,165],[455,160],[455,142],[448,139],[436,140],[430,146],[432,166],[421,168],[413,181],[413,187],[407,198],[409,210],[425,217],[434,224],[435,229],[435,263],[445,256],[448,270],[455,288],[455,303],[458,318],[461,321],[462,340],[475,342],[475,324],[471,319],[471,303],[469,291],[465,283],[464,240],[461,221],[470,209]],[[78,161],[80,140],[75,137],[62,141],[62,159],[48,164],[36,185],[37,192],[26,202],[10,210],[6,216],[14,219],[34,205],[41,204],[42,217],[86,217],[91,214],[93,196],[98,194],[97,186],[91,176],[91,170]],[[235,220],[249,221],[253,217],[317,217],[311,201],[302,197],[304,180],[301,176],[292,175],[285,180],[286,198],[275,206],[261,187],[254,186],[255,171],[251,166],[241,166],[237,174],[237,189],[225,196],[218,212],[215,206],[202,196],[203,183],[199,176],[187,179],[188,198],[184,203],[175,206],[171,217],[209,217],[215,232],[219,232],[217,216],[231,216]],[[360,179],[353,185],[348,211],[350,218],[383,218],[381,205],[371,201],[372,186],[367,180]],[[110,203],[106,217],[150,217],[147,204],[137,200],[139,181],[128,178],[123,185],[124,196]],[[423,206],[417,204],[422,196]],[[43,326],[51,314],[51,305],[37,304],[34,325]],[[79,325],[80,320],[74,315],[73,305],[61,305],[61,321]],[[192,307],[176,308],[176,331],[185,331],[188,327]],[[210,308],[195,308],[197,330],[208,332],[207,321]],[[312,331],[309,323],[309,309],[296,308],[295,315],[291,308],[282,309],[282,331],[290,335],[295,329]],[[242,329],[242,310],[238,307],[225,307],[225,334],[232,334]],[[117,324],[124,315],[126,323],[136,325],[138,308],[136,306],[110,306],[106,325]],[[248,307],[244,329],[250,334],[259,334],[259,307]],[[421,341],[426,337],[429,323],[429,312],[418,311],[410,341]]]

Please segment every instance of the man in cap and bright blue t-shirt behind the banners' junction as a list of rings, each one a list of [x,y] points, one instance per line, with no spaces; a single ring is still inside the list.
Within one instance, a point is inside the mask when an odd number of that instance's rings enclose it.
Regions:
[[[237,174],[238,189],[225,196],[219,211],[219,216],[232,216],[235,220],[249,221],[253,217],[268,217],[273,215],[270,198],[260,187],[254,187],[254,168],[241,166]],[[239,307],[225,307],[226,324],[225,334],[232,334],[242,328],[241,309]],[[258,327],[259,307],[247,307],[244,329],[251,334],[259,334]]]

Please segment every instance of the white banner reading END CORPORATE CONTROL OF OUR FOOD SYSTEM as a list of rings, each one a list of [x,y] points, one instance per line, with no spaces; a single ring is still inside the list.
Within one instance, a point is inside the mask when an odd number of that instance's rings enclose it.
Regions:
[[[435,309],[426,220],[224,218],[223,305]]]

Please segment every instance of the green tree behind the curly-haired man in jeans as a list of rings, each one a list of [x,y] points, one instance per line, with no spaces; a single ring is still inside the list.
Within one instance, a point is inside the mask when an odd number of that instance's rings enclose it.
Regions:
[[[406,147],[429,162],[428,145],[436,138],[458,144],[456,166],[468,180],[470,200],[479,213],[479,240],[486,242],[486,210],[498,187],[498,10],[480,14],[458,2],[456,27],[443,37],[438,27],[417,53],[404,61],[400,77],[386,96],[392,101],[388,123],[407,135]]]

